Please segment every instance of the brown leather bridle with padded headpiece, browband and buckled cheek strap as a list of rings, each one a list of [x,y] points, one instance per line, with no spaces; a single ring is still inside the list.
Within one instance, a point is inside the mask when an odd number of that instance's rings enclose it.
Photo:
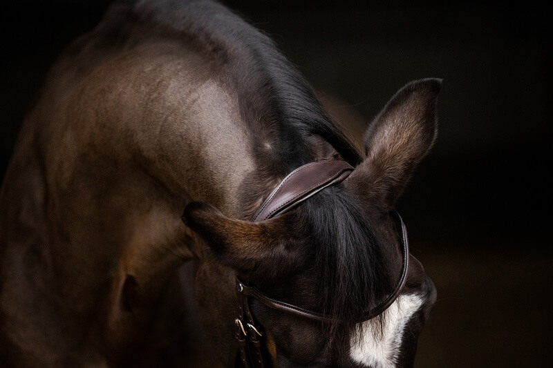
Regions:
[[[252,221],[260,222],[285,213],[308,199],[308,197],[319,193],[319,191],[322,191],[327,186],[343,181],[352,171],[353,167],[350,164],[337,159],[312,162],[300,166],[285,177],[277,188],[272,191],[267,200],[263,202],[259,211],[254,215]],[[402,217],[396,211],[392,211],[391,215],[395,222],[399,224],[401,231],[400,239],[402,242],[403,261],[400,280],[397,282],[393,293],[384,299],[384,301],[376,307],[365,311],[363,316],[358,320],[349,322],[364,322],[375,318],[390,307],[404,287],[409,267],[409,242]],[[256,287],[247,286],[238,276],[236,276],[236,296],[238,298],[238,317],[234,320],[236,323],[236,340],[238,340],[240,359],[242,364],[247,368],[263,368],[263,354],[261,352],[263,333],[255,327],[254,317],[250,310],[250,298],[255,298],[265,305],[265,307],[277,309],[302,318],[319,322],[336,320],[331,316],[325,316],[315,311],[272,299],[259,291],[259,289],[256,289]]]

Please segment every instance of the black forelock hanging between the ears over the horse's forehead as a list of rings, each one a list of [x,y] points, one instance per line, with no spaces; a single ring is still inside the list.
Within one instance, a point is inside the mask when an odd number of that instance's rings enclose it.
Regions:
[[[317,298],[320,310],[334,318],[326,329],[329,336],[347,339],[364,324],[356,323],[375,307],[391,287],[388,252],[355,198],[341,186],[326,188],[305,205],[304,221],[315,247]],[[371,323],[378,334],[385,315]],[[335,344],[347,349],[348,343]]]

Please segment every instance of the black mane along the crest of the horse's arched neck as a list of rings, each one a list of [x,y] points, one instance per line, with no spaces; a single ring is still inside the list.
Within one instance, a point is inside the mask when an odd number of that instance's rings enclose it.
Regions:
[[[310,135],[319,135],[355,166],[361,157],[332,122],[312,88],[274,42],[212,1],[138,1],[134,17],[196,43],[216,59],[238,95],[241,115],[254,132],[254,156],[279,175],[312,160]],[[265,142],[274,144],[268,154]]]

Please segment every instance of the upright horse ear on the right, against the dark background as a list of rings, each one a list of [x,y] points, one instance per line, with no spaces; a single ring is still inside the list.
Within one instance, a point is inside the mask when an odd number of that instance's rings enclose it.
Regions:
[[[371,206],[393,209],[415,166],[437,133],[436,102],[441,79],[421,79],[400,89],[368,126],[366,157],[346,180]]]

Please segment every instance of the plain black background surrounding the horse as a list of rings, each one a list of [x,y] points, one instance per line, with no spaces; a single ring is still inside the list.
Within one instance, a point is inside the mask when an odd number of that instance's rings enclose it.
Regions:
[[[3,6],[0,177],[48,67],[108,3]],[[438,288],[417,365],[539,365],[553,326],[545,8],[528,1],[226,3],[268,32],[317,90],[367,122],[407,82],[444,79],[438,141],[399,205],[411,251]]]

